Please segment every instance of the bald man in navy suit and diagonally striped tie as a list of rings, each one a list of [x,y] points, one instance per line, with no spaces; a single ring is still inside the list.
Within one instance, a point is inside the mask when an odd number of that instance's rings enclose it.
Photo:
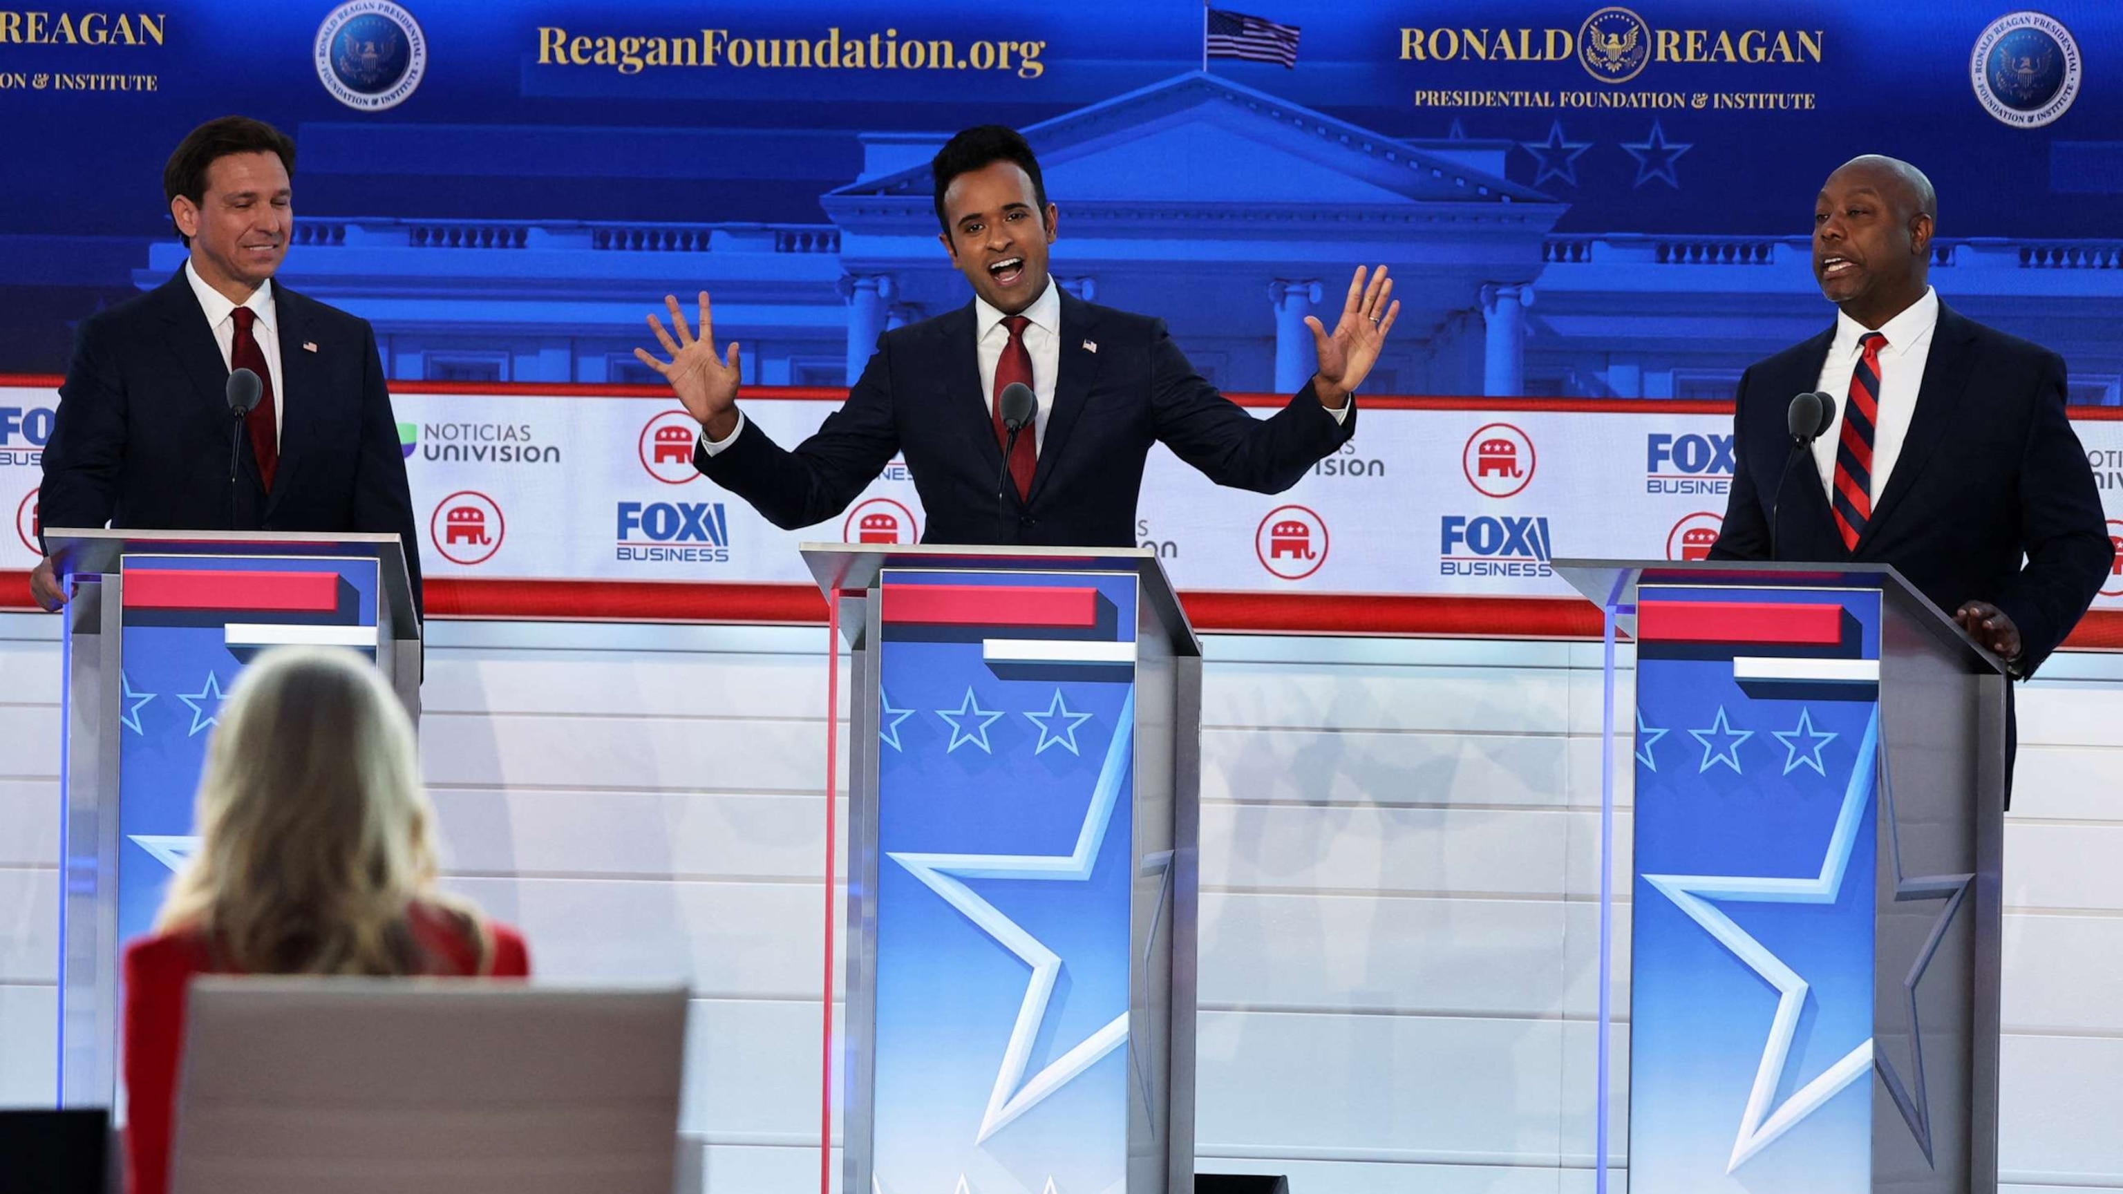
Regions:
[[[1813,274],[1836,323],[1741,376],[1711,559],[1892,563],[2025,678],[2093,603],[2115,550],[2064,416],[2064,359],[1938,302],[1936,219],[1906,161],[1853,157],[1828,176]],[[1785,474],[1785,406],[1807,391],[1832,395],[1836,421],[1815,470]]]

